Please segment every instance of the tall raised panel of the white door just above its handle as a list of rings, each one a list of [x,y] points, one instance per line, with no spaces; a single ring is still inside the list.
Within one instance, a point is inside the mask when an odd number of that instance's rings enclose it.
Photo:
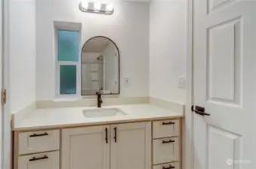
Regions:
[[[240,104],[241,18],[208,29],[208,101]]]

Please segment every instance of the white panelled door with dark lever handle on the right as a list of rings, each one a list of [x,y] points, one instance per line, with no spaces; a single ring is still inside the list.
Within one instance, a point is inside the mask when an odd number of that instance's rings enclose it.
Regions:
[[[256,1],[193,2],[193,168],[254,169]]]

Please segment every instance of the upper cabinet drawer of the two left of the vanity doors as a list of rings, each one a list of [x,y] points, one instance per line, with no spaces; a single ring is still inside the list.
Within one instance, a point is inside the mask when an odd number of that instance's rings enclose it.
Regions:
[[[19,155],[57,150],[60,130],[34,131],[19,134]]]

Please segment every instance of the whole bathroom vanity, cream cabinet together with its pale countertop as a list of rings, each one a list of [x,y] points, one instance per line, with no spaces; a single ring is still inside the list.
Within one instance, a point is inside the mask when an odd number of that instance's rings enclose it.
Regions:
[[[182,117],[150,104],[35,110],[14,126],[14,169],[180,169]]]

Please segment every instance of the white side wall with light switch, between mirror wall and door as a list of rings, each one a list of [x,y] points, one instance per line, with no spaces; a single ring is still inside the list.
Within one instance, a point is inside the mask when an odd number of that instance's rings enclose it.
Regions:
[[[178,77],[186,77],[186,3],[150,3],[150,97],[183,104],[186,90],[178,89]]]

